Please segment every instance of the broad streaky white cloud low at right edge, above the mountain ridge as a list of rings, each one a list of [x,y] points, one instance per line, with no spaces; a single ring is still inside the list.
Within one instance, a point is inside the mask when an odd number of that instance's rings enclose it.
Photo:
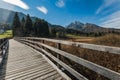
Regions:
[[[116,11],[111,15],[103,18],[101,26],[120,29],[120,11]]]

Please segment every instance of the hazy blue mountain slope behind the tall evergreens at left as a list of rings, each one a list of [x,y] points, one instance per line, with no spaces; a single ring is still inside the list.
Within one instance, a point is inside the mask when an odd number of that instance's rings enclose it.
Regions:
[[[12,24],[14,15],[15,11],[0,8],[0,23]],[[23,17],[26,17],[26,15],[21,12],[18,12],[18,16],[20,17],[20,20]],[[34,21],[36,17],[31,17],[31,19]]]

